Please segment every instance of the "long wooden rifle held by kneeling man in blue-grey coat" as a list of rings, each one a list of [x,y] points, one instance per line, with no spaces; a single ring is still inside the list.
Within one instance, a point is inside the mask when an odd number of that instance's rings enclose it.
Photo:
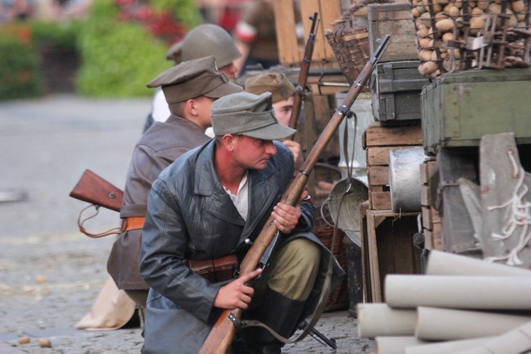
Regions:
[[[369,62],[365,64],[358,79],[353,82],[353,86],[347,93],[347,96],[341,103],[336,113],[334,113],[329,124],[321,133],[321,136],[314,145],[314,148],[309,153],[306,161],[302,165],[300,172],[287,188],[285,195],[280,202],[287,205],[296,205],[299,202],[299,198],[302,195],[304,188],[307,185],[309,173],[314,168],[319,156],[324,151],[326,144],[330,142],[337,127],[345,117],[350,117],[353,113],[350,111],[350,107],[353,105],[355,99],[360,94],[363,86],[367,83],[372,71],[375,69],[376,64],[380,57],[384,54],[389,42],[389,35],[385,35],[382,40],[379,40],[379,46],[375,50],[375,53],[370,57]],[[265,223],[262,231],[258,235],[253,246],[247,252],[244,260],[241,262],[240,274],[248,274],[256,269],[256,266],[260,262],[260,258],[267,249],[270,241],[275,236],[278,229],[273,224],[273,217],[269,217]],[[239,323],[243,309],[236,308],[232,310],[224,310],[217,319],[215,325],[212,327],[209,335],[207,336],[205,343],[203,343],[200,353],[227,353],[227,350],[231,346],[234,333],[236,331],[236,324]]]

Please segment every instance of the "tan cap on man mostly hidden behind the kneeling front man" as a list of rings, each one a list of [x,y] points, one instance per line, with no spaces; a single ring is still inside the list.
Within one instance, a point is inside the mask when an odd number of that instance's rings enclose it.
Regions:
[[[264,92],[273,93],[273,103],[287,100],[295,95],[295,86],[281,72],[260,74],[245,81],[245,91],[261,95]]]

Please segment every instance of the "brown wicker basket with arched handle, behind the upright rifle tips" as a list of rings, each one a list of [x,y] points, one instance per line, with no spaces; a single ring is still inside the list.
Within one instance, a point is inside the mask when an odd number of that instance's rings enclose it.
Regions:
[[[350,27],[353,13],[368,4],[389,4],[391,0],[365,0],[351,6],[333,23],[333,30],[326,33],[326,40],[332,47],[341,72],[352,86],[361,70],[370,59],[369,30],[366,26]]]

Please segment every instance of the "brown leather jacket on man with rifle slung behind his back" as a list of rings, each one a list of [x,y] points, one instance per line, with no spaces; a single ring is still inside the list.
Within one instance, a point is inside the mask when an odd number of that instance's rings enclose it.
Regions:
[[[137,142],[125,181],[120,217],[144,217],[152,183],[173,161],[210,139],[190,120],[171,115],[156,122]],[[107,263],[110,275],[122,290],[147,290],[140,275],[142,229],[122,232],[113,244]]]

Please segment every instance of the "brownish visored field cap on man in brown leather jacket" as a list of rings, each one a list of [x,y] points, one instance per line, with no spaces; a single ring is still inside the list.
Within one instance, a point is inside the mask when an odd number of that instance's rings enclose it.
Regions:
[[[217,71],[212,55],[182,62],[156,76],[146,86],[162,86],[168,103],[183,102],[199,96],[220,98],[242,91],[241,86],[232,84],[225,74]]]

